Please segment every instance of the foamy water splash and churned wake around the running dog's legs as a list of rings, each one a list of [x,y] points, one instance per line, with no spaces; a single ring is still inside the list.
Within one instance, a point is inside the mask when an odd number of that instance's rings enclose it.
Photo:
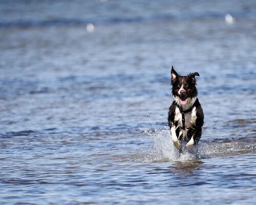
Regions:
[[[187,149],[185,144],[181,144],[183,153],[180,155],[173,145],[169,130],[147,131],[144,133],[151,137],[152,143],[148,147],[139,150],[137,154],[123,158],[122,161],[128,160],[143,163],[185,161],[230,157],[256,151],[255,137],[230,137],[201,140],[197,146],[190,149]]]

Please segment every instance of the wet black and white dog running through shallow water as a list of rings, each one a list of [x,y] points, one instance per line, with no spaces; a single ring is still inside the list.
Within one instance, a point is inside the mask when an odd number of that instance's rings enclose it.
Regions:
[[[196,78],[199,73],[179,75],[172,66],[173,104],[169,107],[168,124],[174,146],[182,153],[181,141],[190,148],[198,144],[204,124],[203,109],[197,98]]]

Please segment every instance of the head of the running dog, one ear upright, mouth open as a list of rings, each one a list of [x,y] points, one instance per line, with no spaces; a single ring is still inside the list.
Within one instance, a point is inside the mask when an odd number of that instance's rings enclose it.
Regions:
[[[173,96],[178,104],[186,105],[193,98],[195,99],[197,97],[197,81],[195,76],[199,76],[198,72],[181,76],[172,66],[170,73],[172,74]]]

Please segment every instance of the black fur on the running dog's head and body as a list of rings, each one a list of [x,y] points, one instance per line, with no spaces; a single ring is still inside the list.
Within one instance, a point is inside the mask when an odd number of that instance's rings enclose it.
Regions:
[[[174,68],[172,67],[172,80],[171,84],[173,86],[173,96],[174,97],[179,97],[177,99],[185,100],[185,99],[190,99],[190,98],[195,98],[197,97],[197,88],[196,88],[196,78],[195,76],[199,76],[199,73],[189,73],[186,76],[181,76],[179,75]],[[179,90],[183,85],[182,94],[179,94]],[[180,91],[181,92],[181,91]],[[181,131],[181,127],[178,126],[178,120],[175,121],[175,115],[176,113],[176,108],[181,107],[182,110],[182,105],[177,104],[177,101],[173,101],[173,104],[169,107],[169,112],[168,112],[168,124],[170,129],[174,126],[176,129],[176,135],[177,137],[179,136],[179,133]],[[187,137],[180,137],[178,138],[179,141],[184,140],[185,142],[188,142],[191,137],[194,138],[194,145],[198,144],[198,141],[201,138],[202,135],[202,126],[204,124],[204,114],[203,114],[203,109],[199,103],[199,100],[197,99],[193,105],[193,107],[196,107],[196,123],[192,125],[193,129],[189,129],[187,131]],[[188,110],[187,108],[186,110]],[[185,110],[183,110],[185,111]],[[192,112],[187,112],[186,115],[191,115]]]

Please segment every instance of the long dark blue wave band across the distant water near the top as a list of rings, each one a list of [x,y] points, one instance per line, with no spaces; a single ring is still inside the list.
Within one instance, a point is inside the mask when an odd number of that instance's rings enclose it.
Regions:
[[[120,23],[139,23],[159,20],[197,20],[197,19],[211,19],[223,18],[225,13],[220,12],[203,12],[203,13],[182,13],[179,15],[160,14],[151,16],[132,15],[132,16],[111,16],[108,18],[95,17],[88,19],[80,18],[54,18],[54,19],[29,19],[29,20],[10,20],[0,22],[0,28],[30,28],[30,27],[51,27],[51,26],[82,26],[87,24],[105,25],[105,24],[120,24]],[[234,17],[252,17],[248,12],[233,12]]]

